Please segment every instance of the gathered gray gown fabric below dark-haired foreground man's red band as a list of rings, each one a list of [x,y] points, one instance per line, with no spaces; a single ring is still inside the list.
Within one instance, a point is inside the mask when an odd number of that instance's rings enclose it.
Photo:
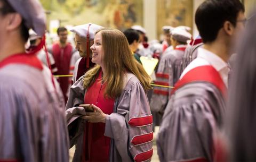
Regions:
[[[195,81],[178,88],[159,128],[160,161],[213,161],[213,139],[224,112],[225,97],[212,83]]]

